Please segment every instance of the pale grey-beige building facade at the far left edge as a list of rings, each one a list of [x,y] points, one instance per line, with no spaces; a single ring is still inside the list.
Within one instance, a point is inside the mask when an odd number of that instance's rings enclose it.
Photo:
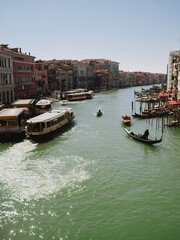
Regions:
[[[13,55],[8,45],[0,45],[0,103],[14,101]]]

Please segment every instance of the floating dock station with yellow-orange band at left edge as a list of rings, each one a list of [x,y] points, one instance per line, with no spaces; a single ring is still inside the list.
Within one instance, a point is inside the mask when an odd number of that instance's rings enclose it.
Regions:
[[[25,108],[5,108],[0,111],[0,140],[25,137]]]

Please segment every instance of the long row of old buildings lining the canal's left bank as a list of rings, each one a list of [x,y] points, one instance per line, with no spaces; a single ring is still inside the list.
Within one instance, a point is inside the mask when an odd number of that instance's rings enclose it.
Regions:
[[[161,73],[126,72],[106,59],[37,60],[21,48],[0,45],[0,104],[20,98],[40,98],[53,91],[76,88],[101,91],[133,86],[166,84]]]

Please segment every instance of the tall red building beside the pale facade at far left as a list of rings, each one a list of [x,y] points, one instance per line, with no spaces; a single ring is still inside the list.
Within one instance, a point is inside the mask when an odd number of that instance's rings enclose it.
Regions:
[[[30,53],[22,53],[21,48],[10,48],[13,53],[14,96],[29,98],[36,95],[34,59]]]

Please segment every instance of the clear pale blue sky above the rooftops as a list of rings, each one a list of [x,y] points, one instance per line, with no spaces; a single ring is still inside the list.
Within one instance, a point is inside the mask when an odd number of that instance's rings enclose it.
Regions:
[[[36,60],[105,58],[166,73],[180,49],[180,0],[0,0],[0,43]]]

